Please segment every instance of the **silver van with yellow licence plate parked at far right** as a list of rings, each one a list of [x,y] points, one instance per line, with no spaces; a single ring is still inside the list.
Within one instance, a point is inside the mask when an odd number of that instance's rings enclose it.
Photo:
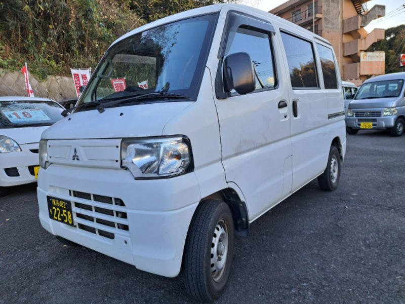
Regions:
[[[380,75],[365,81],[346,113],[346,131],[389,129],[401,136],[405,122],[405,72]]]

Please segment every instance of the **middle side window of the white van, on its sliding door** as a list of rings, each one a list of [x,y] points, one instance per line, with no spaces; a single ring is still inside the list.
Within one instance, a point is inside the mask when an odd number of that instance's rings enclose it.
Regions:
[[[319,88],[312,44],[281,32],[293,89]]]

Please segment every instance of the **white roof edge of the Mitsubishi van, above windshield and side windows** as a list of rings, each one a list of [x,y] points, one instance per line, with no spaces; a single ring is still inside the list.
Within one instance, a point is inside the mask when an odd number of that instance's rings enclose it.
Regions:
[[[189,18],[189,17],[193,17],[193,16],[205,15],[205,14],[210,14],[210,13],[217,13],[217,12],[220,12],[221,10],[223,10],[224,8],[226,8],[226,10],[228,10],[228,11],[235,10],[235,11],[245,12],[245,13],[251,14],[253,16],[257,16],[257,17],[261,17],[263,19],[269,20],[270,22],[276,21],[277,23],[279,23],[278,24],[279,26],[282,25],[282,27],[284,27],[287,30],[291,29],[291,30],[294,30],[295,33],[299,33],[303,36],[311,36],[318,41],[321,41],[325,44],[332,46],[332,44],[328,40],[322,38],[321,36],[318,36],[315,33],[310,32],[309,30],[307,30],[299,25],[296,25],[286,19],[275,16],[275,15],[270,14],[263,10],[259,10],[259,9],[253,8],[253,7],[249,7],[246,5],[240,5],[240,4],[215,4],[215,5],[205,6],[205,7],[196,8],[196,9],[188,10],[185,12],[177,13],[177,14],[150,22],[148,24],[145,24],[143,26],[140,26],[140,27],[130,31],[130,32],[126,33],[125,35],[119,37],[116,41],[114,41],[111,44],[111,46],[123,39],[126,39],[129,36],[132,36],[135,33],[142,32],[142,31],[154,28],[159,25],[171,23],[171,22],[177,21],[179,19],[185,19],[185,18]]]

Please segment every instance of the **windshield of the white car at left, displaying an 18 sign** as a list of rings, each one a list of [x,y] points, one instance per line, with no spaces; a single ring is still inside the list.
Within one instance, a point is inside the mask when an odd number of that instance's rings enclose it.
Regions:
[[[62,119],[62,110],[52,101],[0,101],[0,128],[50,126]]]

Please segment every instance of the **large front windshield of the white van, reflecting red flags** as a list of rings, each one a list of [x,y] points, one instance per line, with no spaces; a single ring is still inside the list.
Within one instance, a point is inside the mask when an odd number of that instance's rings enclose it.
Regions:
[[[216,16],[165,24],[111,46],[79,100],[77,106],[83,106],[76,110],[93,109],[100,103],[118,106],[195,99]]]

